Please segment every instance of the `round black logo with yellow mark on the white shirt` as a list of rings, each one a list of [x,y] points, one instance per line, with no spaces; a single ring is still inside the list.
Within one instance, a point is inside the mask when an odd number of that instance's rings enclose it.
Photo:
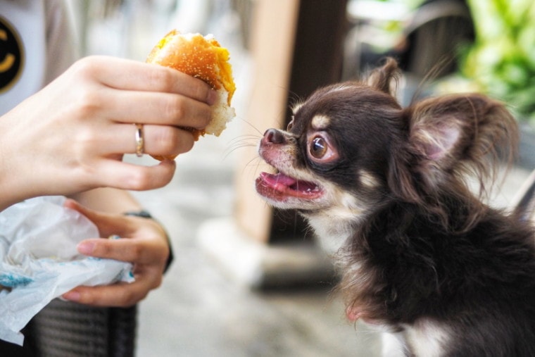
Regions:
[[[23,46],[11,24],[0,16],[0,93],[9,89],[23,69]]]

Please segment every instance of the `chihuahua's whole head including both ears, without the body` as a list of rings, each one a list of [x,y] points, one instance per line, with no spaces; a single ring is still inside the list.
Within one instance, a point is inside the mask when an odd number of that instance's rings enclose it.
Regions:
[[[402,108],[390,90],[396,73],[389,59],[366,82],[318,89],[295,106],[287,130],[260,141],[277,173],[260,174],[257,192],[309,218],[358,221],[392,200],[440,206],[444,192],[466,194],[461,173],[485,177],[489,154],[514,144],[515,120],[498,102],[459,94]]]

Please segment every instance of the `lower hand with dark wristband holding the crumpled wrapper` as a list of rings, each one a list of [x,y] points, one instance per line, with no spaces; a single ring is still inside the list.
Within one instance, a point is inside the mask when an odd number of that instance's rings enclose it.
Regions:
[[[122,237],[85,239],[78,245],[78,251],[87,256],[133,263],[135,281],[98,287],[76,287],[63,294],[64,299],[91,306],[127,307],[144,299],[152,289],[160,286],[170,246],[167,234],[155,220],[100,213],[73,200],[65,201],[65,206],[92,220],[103,237],[112,234]]]

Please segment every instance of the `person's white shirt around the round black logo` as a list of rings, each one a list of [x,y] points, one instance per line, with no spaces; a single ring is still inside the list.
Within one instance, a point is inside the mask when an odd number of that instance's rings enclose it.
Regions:
[[[0,0],[0,21],[8,39],[18,42],[21,63],[20,73],[0,85],[2,115],[63,73],[77,58],[77,47],[64,0]]]

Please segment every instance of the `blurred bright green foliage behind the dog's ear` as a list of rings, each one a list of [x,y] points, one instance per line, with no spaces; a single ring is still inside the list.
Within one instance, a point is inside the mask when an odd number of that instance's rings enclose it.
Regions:
[[[476,41],[463,75],[535,123],[534,0],[468,0]]]

